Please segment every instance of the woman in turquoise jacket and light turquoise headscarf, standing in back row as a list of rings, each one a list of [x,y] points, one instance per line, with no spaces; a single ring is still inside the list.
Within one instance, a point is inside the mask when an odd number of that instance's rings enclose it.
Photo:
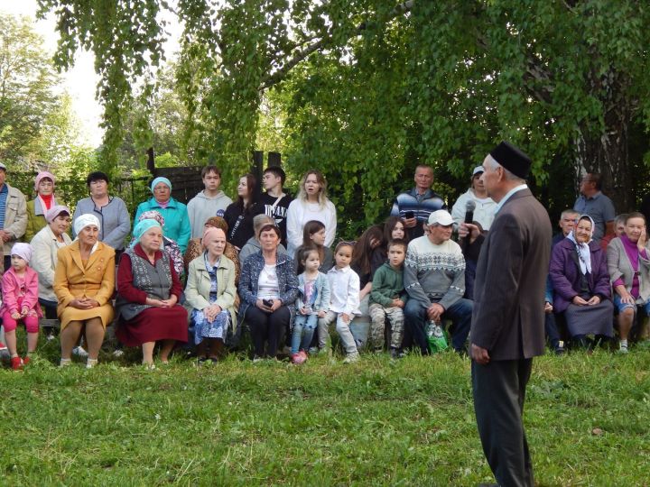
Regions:
[[[181,247],[181,253],[185,252],[190,242],[191,228],[190,216],[187,207],[181,202],[172,198],[172,183],[167,178],[153,179],[151,184],[153,198],[149,198],[138,205],[135,212],[135,223],[145,211],[155,210],[164,218],[163,234],[175,240]]]

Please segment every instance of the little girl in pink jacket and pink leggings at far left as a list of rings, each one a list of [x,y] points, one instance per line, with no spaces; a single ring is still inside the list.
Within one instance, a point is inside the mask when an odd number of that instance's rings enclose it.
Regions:
[[[29,243],[15,243],[11,253],[12,266],[5,271],[2,279],[0,315],[14,370],[29,363],[30,354],[38,344],[38,320],[42,312],[38,303],[38,274],[29,266],[31,259],[32,246]],[[27,329],[27,354],[23,359],[18,356],[15,339],[15,328],[21,321]]]

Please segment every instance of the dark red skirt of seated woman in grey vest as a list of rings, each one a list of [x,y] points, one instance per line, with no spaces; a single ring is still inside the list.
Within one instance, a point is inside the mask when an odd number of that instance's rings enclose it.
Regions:
[[[187,311],[180,305],[145,308],[128,321],[120,320],[116,336],[126,346],[140,346],[158,340],[187,342]]]

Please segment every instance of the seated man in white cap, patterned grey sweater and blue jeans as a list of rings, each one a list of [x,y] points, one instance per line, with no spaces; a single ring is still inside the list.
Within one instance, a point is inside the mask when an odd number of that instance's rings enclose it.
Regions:
[[[409,300],[404,309],[406,328],[423,355],[429,354],[426,324],[451,318],[451,345],[465,353],[472,302],[463,299],[465,259],[451,239],[453,218],[446,210],[432,212],[428,233],[412,240],[404,262],[404,288]]]

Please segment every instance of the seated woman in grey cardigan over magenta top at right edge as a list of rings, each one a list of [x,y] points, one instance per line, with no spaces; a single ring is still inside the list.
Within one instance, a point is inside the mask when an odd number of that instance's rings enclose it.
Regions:
[[[637,307],[650,316],[650,253],[645,248],[645,216],[630,213],[625,231],[608,244],[609,279],[614,288],[614,305],[618,309],[618,333],[621,354],[627,354],[629,335]]]

